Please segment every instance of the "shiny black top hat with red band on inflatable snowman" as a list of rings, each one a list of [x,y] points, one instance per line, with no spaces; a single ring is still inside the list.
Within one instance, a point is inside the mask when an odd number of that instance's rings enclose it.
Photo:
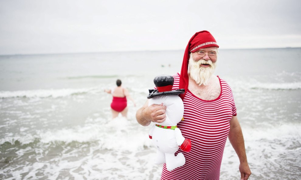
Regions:
[[[150,94],[148,94],[147,99],[151,99],[155,96],[176,95],[185,93],[185,89],[172,90],[174,78],[170,75],[161,75],[155,77],[154,84],[157,89],[148,90]]]

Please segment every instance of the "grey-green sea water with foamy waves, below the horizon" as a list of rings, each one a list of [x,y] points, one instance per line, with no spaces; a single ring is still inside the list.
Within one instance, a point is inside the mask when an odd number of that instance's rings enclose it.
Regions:
[[[180,72],[184,50],[0,56],[0,179],[155,180],[151,126],[136,121],[153,78]],[[219,50],[250,179],[301,178],[301,48]],[[128,118],[104,89],[122,80]],[[239,179],[226,143],[220,179]]]

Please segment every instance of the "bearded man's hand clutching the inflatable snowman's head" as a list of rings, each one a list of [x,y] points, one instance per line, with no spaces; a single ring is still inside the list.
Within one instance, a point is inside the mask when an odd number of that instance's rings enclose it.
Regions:
[[[161,104],[152,104],[143,110],[144,117],[150,119],[151,122],[163,122],[166,119],[166,106]]]

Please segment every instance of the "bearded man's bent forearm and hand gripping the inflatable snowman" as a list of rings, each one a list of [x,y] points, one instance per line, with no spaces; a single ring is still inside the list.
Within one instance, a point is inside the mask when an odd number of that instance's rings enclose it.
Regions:
[[[143,126],[148,126],[151,122],[163,122],[166,119],[166,106],[161,104],[152,104],[148,106],[149,100],[147,100],[142,108],[136,112],[137,122]]]

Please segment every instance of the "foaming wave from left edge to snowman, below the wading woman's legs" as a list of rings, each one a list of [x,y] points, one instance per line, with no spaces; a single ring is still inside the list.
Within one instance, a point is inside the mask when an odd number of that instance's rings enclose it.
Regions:
[[[135,140],[130,141],[131,139]],[[6,137],[0,139],[0,145],[5,143],[25,145],[34,142],[44,144],[98,142],[102,150],[123,149],[128,151],[142,150],[144,147],[152,146],[145,128],[123,117],[117,117],[110,121],[102,118],[93,119],[83,126],[72,128],[55,130],[39,129],[35,133],[26,133],[23,131],[19,134],[9,133],[6,134]]]

